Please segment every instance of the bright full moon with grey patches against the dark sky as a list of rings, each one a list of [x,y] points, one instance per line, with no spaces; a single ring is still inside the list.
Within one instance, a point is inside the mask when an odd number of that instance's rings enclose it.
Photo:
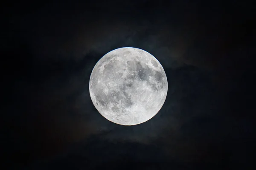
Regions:
[[[89,91],[93,105],[119,125],[137,125],[155,116],[166,100],[168,83],[160,62],[139,48],[117,48],[93,68]]]

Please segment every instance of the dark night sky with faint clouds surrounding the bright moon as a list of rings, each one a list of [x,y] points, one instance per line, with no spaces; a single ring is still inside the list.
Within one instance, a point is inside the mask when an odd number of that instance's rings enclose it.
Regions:
[[[26,170],[250,169],[256,156],[253,1],[6,1],[4,166]],[[162,109],[135,126],[93,106],[89,78],[136,47],[166,71]]]

